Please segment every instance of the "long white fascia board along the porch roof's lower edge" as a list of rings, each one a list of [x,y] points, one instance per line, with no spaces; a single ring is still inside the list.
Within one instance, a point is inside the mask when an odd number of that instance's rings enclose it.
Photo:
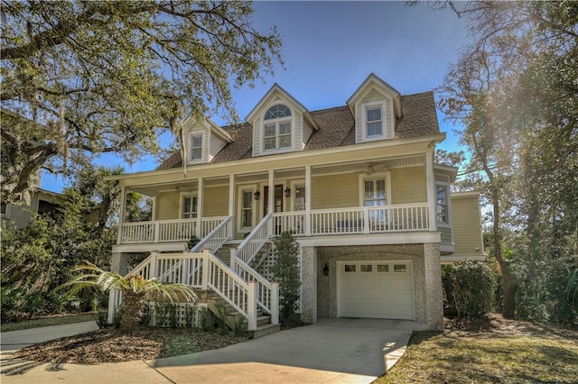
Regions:
[[[426,136],[420,136],[418,138],[409,138],[409,139],[392,139],[387,141],[379,141],[379,142],[364,142],[354,145],[347,145],[344,147],[332,147],[326,148],[323,150],[317,151],[296,151],[296,152],[287,152],[281,153],[278,155],[270,155],[270,156],[259,156],[251,159],[243,159],[243,160],[231,160],[231,161],[222,161],[218,163],[207,163],[202,165],[197,165],[195,168],[202,167],[202,169],[206,170],[219,170],[219,169],[228,169],[232,164],[243,166],[250,166],[250,165],[258,165],[258,164],[267,164],[268,166],[271,165],[275,160],[303,160],[306,158],[312,158],[320,155],[328,155],[328,154],[348,154],[348,153],[359,153],[359,151],[366,151],[366,150],[387,150],[387,148],[397,147],[397,146],[404,146],[404,145],[412,145],[412,144],[420,144],[420,143],[431,143],[435,141],[443,141],[445,139],[445,133],[434,133],[429,134]],[[408,154],[416,154],[415,152],[408,152]],[[387,152],[384,151],[384,155],[387,155]],[[396,156],[398,157],[398,155]],[[363,159],[359,159],[363,160]],[[370,160],[370,159],[366,159]],[[318,165],[322,165],[321,163]],[[195,169],[189,169],[194,172]],[[227,172],[225,172],[227,173]],[[223,173],[223,174],[225,174]],[[112,180],[122,180],[128,178],[145,178],[147,176],[162,176],[162,175],[182,175],[182,168],[172,168],[172,169],[161,169],[161,170],[145,170],[143,172],[133,172],[133,173],[125,173],[122,175],[112,175],[106,176],[104,179],[106,181]]]

